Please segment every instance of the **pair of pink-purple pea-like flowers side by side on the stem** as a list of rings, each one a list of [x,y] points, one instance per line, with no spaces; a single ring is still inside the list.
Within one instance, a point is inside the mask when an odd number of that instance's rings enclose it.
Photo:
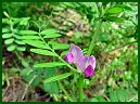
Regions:
[[[96,57],[93,55],[84,56],[82,51],[78,46],[72,43],[64,60],[69,64],[76,64],[78,72],[85,73],[85,77],[91,77],[96,74]]]

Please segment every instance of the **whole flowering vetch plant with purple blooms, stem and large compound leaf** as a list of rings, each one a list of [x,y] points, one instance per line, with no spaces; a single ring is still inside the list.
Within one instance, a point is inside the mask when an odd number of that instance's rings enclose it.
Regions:
[[[79,99],[78,101],[84,100],[84,83],[85,78],[91,78],[96,75],[94,68],[96,68],[96,57],[93,55],[90,56],[96,35],[98,35],[99,30],[94,32],[92,36],[92,40],[90,43],[90,47],[88,49],[87,55],[84,55],[82,50],[78,47],[72,43],[71,46],[67,43],[59,43],[54,41],[46,41],[44,39],[51,39],[51,38],[58,38],[63,37],[61,34],[59,34],[54,28],[48,28],[44,30],[42,29],[42,26],[39,26],[37,23],[35,23],[37,27],[39,28],[39,31],[35,30],[22,30],[21,34],[22,39],[25,43],[33,46],[34,48],[30,49],[31,52],[41,54],[41,55],[50,55],[55,58],[53,62],[48,63],[38,63],[35,64],[34,67],[36,68],[43,68],[43,67],[60,67],[60,66],[67,66],[71,72],[52,76],[47,79],[43,79],[43,84],[49,82],[59,81],[61,79],[64,79],[68,76],[76,75],[79,76],[78,80],[78,90],[79,90]],[[98,28],[99,29],[99,28]],[[65,54],[59,55],[55,51],[56,50],[65,50],[68,49],[69,51]],[[63,53],[63,52],[62,52]],[[65,56],[64,56],[65,55]],[[58,58],[56,58],[58,57]],[[76,67],[74,67],[76,65]],[[67,94],[66,90],[62,87],[62,83],[59,81],[59,84],[65,95],[67,96],[68,101],[73,101],[73,99]]]

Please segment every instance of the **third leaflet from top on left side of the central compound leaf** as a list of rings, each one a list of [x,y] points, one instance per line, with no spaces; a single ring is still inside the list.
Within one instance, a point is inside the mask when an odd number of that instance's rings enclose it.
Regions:
[[[36,47],[36,48],[40,48],[40,49],[50,49],[49,46],[44,44],[42,41],[39,40],[23,40],[24,42],[26,42],[29,46]]]

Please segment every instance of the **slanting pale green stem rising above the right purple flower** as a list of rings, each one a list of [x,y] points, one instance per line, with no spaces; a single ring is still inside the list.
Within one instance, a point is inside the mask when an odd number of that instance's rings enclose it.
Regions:
[[[97,23],[97,30],[94,30],[96,32],[94,32],[94,35],[92,35],[92,40],[90,42],[89,50],[88,50],[88,53],[87,53],[88,55],[90,55],[91,52],[92,52],[97,36],[98,36],[99,31],[100,31],[100,27],[101,27],[101,22]]]

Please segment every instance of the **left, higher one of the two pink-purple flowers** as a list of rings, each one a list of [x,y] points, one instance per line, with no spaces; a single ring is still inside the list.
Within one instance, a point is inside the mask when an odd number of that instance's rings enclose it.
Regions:
[[[64,60],[69,64],[77,63],[82,57],[82,51],[79,47],[71,44],[69,52],[66,54]]]

